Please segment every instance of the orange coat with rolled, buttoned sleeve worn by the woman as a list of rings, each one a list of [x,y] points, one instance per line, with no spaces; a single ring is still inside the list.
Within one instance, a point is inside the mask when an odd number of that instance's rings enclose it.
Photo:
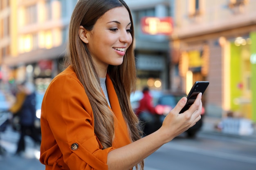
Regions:
[[[102,150],[94,134],[88,96],[72,68],[66,68],[49,84],[41,108],[40,162],[45,164],[45,170],[107,170],[108,152],[130,144],[128,128],[108,75],[106,86],[115,114],[115,139],[112,147]]]

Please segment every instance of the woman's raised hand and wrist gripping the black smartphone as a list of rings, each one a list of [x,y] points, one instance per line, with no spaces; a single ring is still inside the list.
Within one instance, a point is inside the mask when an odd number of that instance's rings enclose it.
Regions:
[[[201,119],[202,113],[202,93],[199,93],[195,102],[190,106],[189,110],[180,113],[180,110],[185,106],[187,98],[183,97],[177,103],[175,108],[165,117],[163,124],[159,130],[165,134],[166,143],[171,141],[174,137],[180,135],[182,132],[188,130]]]

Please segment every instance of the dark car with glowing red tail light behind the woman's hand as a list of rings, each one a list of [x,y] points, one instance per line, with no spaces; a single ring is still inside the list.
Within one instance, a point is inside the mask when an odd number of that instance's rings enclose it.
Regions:
[[[155,106],[155,111],[159,115],[159,124],[162,124],[165,116],[177,105],[177,102],[185,97],[184,93],[177,92],[164,92],[158,98],[157,104]],[[187,137],[193,138],[196,133],[202,128],[203,124],[204,108],[202,109],[202,118],[191,128],[186,130]]]

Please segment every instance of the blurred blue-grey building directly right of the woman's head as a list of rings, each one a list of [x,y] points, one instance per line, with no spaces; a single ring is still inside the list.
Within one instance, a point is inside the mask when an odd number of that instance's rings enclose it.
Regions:
[[[137,89],[142,90],[144,86],[151,90],[168,89],[171,80],[169,34],[158,29],[161,23],[167,23],[159,19],[170,18],[171,1],[126,0],[126,3],[135,27]]]

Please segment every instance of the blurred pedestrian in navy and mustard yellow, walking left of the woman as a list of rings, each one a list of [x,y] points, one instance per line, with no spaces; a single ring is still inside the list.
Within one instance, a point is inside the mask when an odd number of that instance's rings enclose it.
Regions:
[[[31,137],[36,145],[40,145],[41,139],[34,126],[36,120],[36,94],[34,84],[22,82],[17,85],[16,102],[9,108],[13,115],[19,117],[20,138],[15,155],[24,154],[25,136]]]

